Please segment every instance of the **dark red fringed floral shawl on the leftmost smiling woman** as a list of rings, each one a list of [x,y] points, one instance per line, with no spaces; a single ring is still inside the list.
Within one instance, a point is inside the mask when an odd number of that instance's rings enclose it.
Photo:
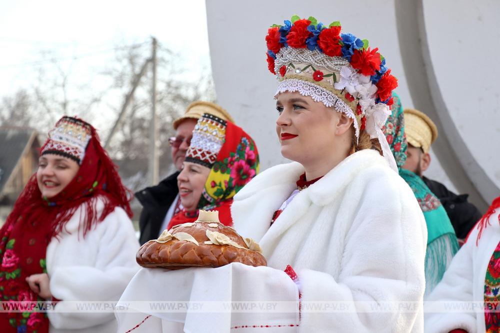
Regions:
[[[95,129],[73,180],[55,197],[44,199],[33,175],[0,230],[0,298],[3,302],[44,301],[31,292],[25,278],[46,273],[45,253],[53,237],[65,229],[81,206],[83,237],[115,207],[132,216],[131,192],[121,183],[117,168],[99,143]],[[98,201],[104,203],[97,212]],[[26,311],[24,311],[26,310]],[[24,309],[0,314],[0,332],[48,333],[46,314]]]

